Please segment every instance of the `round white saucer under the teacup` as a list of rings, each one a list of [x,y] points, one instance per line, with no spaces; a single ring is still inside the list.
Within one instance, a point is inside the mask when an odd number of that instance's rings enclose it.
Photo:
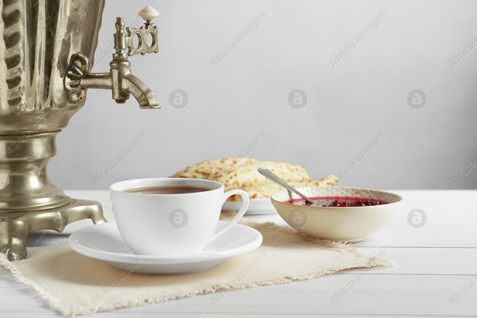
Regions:
[[[217,228],[227,222],[218,221]],[[259,231],[241,224],[212,241],[199,254],[181,256],[135,255],[124,243],[116,222],[84,227],[69,238],[74,251],[101,259],[114,267],[141,274],[173,275],[199,272],[216,266],[228,257],[254,250],[262,244]],[[141,259],[142,258],[142,259]],[[139,260],[141,259],[141,260]],[[134,268],[135,267],[135,268]]]

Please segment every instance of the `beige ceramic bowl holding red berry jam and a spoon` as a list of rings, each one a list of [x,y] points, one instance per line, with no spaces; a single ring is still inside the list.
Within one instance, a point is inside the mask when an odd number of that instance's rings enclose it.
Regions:
[[[325,207],[285,203],[290,200],[288,190],[271,196],[271,203],[290,226],[308,236],[330,241],[357,243],[373,234],[396,215],[403,206],[404,198],[393,193],[345,187],[297,188],[310,198],[320,196],[352,196],[389,202],[385,205]],[[292,194],[291,199],[300,198]]]

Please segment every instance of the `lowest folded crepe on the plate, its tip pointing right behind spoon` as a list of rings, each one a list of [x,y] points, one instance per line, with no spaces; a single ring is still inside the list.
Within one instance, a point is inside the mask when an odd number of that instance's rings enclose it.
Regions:
[[[303,181],[289,181],[287,182],[294,188],[301,188],[307,186],[332,186],[337,183],[338,177],[334,174],[330,174],[320,180],[303,180]],[[274,182],[269,182],[263,185],[257,185],[252,187],[242,188],[249,195],[250,199],[269,198],[273,193],[284,190],[281,185],[277,185]],[[242,201],[241,195],[232,195],[227,201]]]

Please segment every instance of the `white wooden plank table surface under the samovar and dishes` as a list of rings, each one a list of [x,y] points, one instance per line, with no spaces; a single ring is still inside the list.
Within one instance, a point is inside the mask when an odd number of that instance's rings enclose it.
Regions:
[[[112,220],[109,191],[65,191],[72,197],[100,201]],[[388,226],[353,246],[398,263],[373,269],[361,280],[357,270],[342,271],[285,285],[233,291],[214,307],[211,294],[93,315],[122,317],[477,317],[477,190],[397,190],[404,208]],[[425,211],[425,226],[408,224],[415,208]],[[256,217],[284,224],[278,215]],[[83,220],[63,233],[91,225]],[[41,235],[33,234],[32,240]],[[67,239],[67,236],[62,236]],[[0,317],[62,317],[28,288],[0,269]],[[474,275],[474,276],[472,276]],[[330,300],[351,280],[356,282],[333,307]],[[476,286],[470,287],[473,281]],[[470,289],[466,294],[461,290]],[[462,297],[456,297],[459,293]],[[458,296],[458,295],[457,295]],[[450,298],[456,301],[451,303]]]

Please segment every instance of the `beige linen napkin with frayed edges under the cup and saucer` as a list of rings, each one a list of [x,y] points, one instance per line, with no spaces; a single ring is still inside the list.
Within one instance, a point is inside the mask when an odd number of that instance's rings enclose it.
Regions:
[[[230,216],[222,213],[221,219]],[[47,234],[57,236],[54,244],[29,248],[24,260],[10,262],[0,254],[0,265],[69,317],[204,293],[215,293],[211,300],[220,302],[220,295],[234,289],[285,284],[349,268],[394,266],[388,259],[350,245],[314,239],[273,223],[246,217],[239,223],[257,229],[263,236],[262,245],[198,273],[125,274],[122,269],[74,252],[68,236],[57,233]]]

